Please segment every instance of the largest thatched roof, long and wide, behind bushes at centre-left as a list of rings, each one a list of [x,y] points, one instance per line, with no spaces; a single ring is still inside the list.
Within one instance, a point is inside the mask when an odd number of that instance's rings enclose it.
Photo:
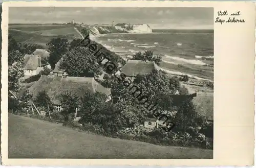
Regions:
[[[29,92],[33,94],[33,99],[39,91],[47,91],[49,97],[54,104],[60,104],[59,97],[61,93],[72,91],[79,97],[84,95],[84,88],[88,88],[92,92],[101,92],[110,95],[110,89],[104,88],[101,84],[96,82],[94,78],[82,77],[48,77],[41,76],[41,78],[29,88]]]

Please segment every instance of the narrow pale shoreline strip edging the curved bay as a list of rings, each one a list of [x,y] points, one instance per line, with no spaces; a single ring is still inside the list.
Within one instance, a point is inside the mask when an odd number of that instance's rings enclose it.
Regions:
[[[95,41],[95,42],[97,42],[97,43],[99,43],[99,44],[101,44],[101,45],[103,45],[104,47],[108,48],[108,46],[104,45],[102,42],[100,42],[100,40],[98,40],[98,37],[102,37],[102,36],[105,36],[105,35],[115,35],[115,34],[119,35],[119,34],[161,34],[161,33],[108,33],[108,34],[98,34],[98,35],[90,34],[90,39]],[[110,49],[108,49],[108,50],[110,50]],[[111,51],[111,52],[117,54],[115,51]],[[119,54],[117,54],[117,55],[119,55]],[[119,55],[119,56],[126,60],[126,58],[123,57],[122,55]],[[165,71],[169,75],[175,75],[175,76],[187,75],[191,79],[214,82],[212,80],[205,79],[205,78],[200,78],[200,77],[197,77],[195,75],[190,75],[190,74],[187,74],[187,73],[182,73],[181,71],[173,71],[173,70],[166,69],[164,67],[160,67],[160,69]]]

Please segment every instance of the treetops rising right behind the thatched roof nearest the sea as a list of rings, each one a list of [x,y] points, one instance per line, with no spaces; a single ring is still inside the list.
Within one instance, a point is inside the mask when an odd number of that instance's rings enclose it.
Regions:
[[[133,55],[134,60],[143,60],[143,61],[154,61],[157,65],[162,61],[162,57],[154,56],[153,51],[148,50],[144,53],[138,52]]]

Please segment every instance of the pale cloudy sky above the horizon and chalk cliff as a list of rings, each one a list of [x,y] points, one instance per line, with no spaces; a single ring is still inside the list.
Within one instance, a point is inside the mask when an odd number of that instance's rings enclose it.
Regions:
[[[147,23],[153,29],[214,29],[214,8],[12,7],[9,23]]]

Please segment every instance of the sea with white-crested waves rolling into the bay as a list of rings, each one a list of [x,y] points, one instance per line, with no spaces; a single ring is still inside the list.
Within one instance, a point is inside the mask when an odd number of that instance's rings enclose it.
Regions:
[[[153,30],[148,34],[104,34],[97,42],[124,59],[152,50],[165,70],[214,80],[213,30]]]

